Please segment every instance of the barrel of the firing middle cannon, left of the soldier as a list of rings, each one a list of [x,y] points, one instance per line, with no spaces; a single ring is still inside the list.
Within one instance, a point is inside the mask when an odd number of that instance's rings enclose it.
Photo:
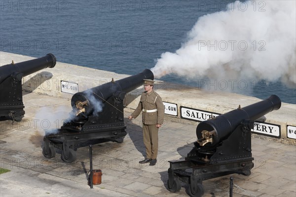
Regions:
[[[143,85],[143,79],[154,79],[154,75],[149,69],[143,72],[132,75],[117,81],[111,81],[103,85],[88,89],[83,92],[74,94],[71,99],[71,105],[74,110],[80,110],[86,115],[89,115],[98,101],[104,103],[111,96],[116,96],[117,99],[124,99],[126,93]],[[80,113],[78,112],[78,114]]]

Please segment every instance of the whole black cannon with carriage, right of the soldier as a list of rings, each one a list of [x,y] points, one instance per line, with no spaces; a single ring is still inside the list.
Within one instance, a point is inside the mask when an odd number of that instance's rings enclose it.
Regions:
[[[250,175],[254,167],[251,149],[254,121],[280,107],[281,100],[272,95],[199,123],[197,141],[185,160],[169,161],[168,190],[180,191],[184,182],[189,184],[191,197],[201,197],[203,180],[233,173]]]

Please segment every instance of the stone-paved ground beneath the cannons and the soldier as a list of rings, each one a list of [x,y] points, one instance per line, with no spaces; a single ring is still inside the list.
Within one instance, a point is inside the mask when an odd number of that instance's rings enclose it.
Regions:
[[[186,197],[186,185],[171,193],[167,187],[168,161],[185,158],[196,140],[196,125],[167,120],[159,131],[159,154],[155,166],[139,164],[144,158],[141,117],[127,119],[123,143],[104,142],[93,146],[93,169],[101,169],[102,184],[87,185],[88,146],[77,149],[77,159],[65,164],[42,155],[44,131],[60,128],[71,111],[69,99],[24,93],[22,122],[0,122],[1,197]],[[271,112],[272,113],[272,112]],[[53,114],[50,117],[49,114]],[[42,129],[43,128],[43,129]],[[233,174],[233,197],[296,197],[296,146],[252,137],[255,158],[250,176]],[[230,175],[203,182],[203,197],[227,197]]]

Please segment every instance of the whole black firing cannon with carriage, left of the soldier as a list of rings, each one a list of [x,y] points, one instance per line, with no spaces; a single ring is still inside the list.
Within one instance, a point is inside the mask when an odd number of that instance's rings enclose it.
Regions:
[[[143,72],[118,81],[74,94],[71,99],[72,116],[61,129],[48,131],[43,137],[42,154],[55,157],[55,148],[62,150],[61,158],[66,163],[76,159],[76,150],[84,142],[100,139],[123,142],[127,134],[123,119],[125,94],[143,85],[143,79],[154,79],[153,73]],[[84,143],[85,144],[85,143]]]

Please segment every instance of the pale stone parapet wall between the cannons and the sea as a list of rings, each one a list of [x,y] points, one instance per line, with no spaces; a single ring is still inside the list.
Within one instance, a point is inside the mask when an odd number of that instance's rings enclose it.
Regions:
[[[35,58],[0,52],[1,66],[10,64],[12,60],[14,63],[18,63],[31,59]],[[69,100],[68,104],[71,105],[70,99],[73,95],[61,91],[61,81],[78,84],[78,91],[81,92],[110,82],[112,78],[118,80],[127,76],[129,75],[57,62],[54,68],[46,68],[25,76],[23,78],[23,90],[57,98],[65,98]],[[197,125],[198,123],[182,119],[180,116],[180,106],[223,114],[236,109],[239,104],[241,107],[244,107],[260,100],[258,98],[228,92],[209,92],[159,80],[156,80],[155,91],[162,97],[163,101],[177,104],[178,115],[166,115],[165,118],[167,120],[191,125]],[[142,92],[143,87],[140,87],[126,95],[126,110],[132,111],[137,107]],[[280,125],[281,137],[273,138],[257,134],[254,134],[254,136],[296,145],[295,139],[287,138],[287,125],[296,126],[295,104],[282,103],[279,110],[266,114],[265,118],[266,123]]]

